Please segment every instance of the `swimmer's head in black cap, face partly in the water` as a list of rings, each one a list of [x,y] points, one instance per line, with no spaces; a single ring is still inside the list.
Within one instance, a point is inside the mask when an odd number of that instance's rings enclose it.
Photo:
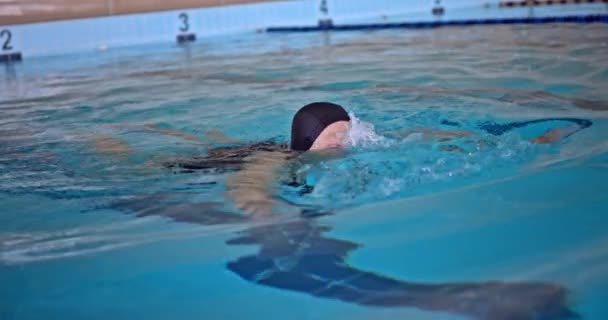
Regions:
[[[302,107],[291,123],[291,149],[297,151],[341,148],[350,117],[341,106],[315,102]]]

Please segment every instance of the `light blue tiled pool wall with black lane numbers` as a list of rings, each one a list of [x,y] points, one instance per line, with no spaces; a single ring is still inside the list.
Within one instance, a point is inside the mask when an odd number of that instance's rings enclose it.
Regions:
[[[12,25],[0,20],[0,52],[26,59],[137,44],[176,45],[178,39],[201,42],[205,37],[263,32],[269,27],[314,27],[324,19],[341,25],[608,14],[608,2],[603,0],[512,7],[501,2],[292,0]]]

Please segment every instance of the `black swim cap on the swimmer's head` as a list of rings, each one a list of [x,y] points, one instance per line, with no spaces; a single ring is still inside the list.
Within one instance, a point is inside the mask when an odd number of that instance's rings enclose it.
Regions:
[[[302,107],[291,122],[291,149],[306,151],[330,124],[350,121],[346,110],[329,102],[315,102]]]

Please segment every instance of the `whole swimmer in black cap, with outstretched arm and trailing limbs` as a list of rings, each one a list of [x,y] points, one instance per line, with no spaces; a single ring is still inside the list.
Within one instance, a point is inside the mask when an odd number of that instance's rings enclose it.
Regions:
[[[560,141],[575,132],[591,125],[591,121],[574,118],[538,119],[509,124],[484,123],[480,129],[499,136],[507,131],[520,128],[533,123],[546,121],[565,121],[572,125],[547,130],[540,136],[530,139],[535,144],[551,144]],[[455,123],[450,122],[451,125]],[[318,159],[335,157],[343,154],[348,147],[348,136],[351,129],[351,118],[340,105],[330,102],[315,102],[302,107],[293,117],[291,126],[291,141],[289,143],[269,139],[253,144],[239,144],[224,137],[218,131],[209,136],[216,137],[216,141],[231,144],[224,147],[209,147],[207,155],[165,162],[164,166],[181,172],[194,170],[210,170],[212,172],[234,172],[227,180],[227,196],[238,209],[256,217],[265,216],[273,211],[299,211],[300,209],[285,203],[275,196],[273,187],[279,181],[280,171],[290,168],[290,181],[284,184],[300,187],[301,194],[312,191],[312,186],[302,182],[303,177],[298,174],[298,164],[310,163]],[[145,130],[155,131],[181,137],[189,141],[196,141],[196,137],[174,129],[147,125]],[[467,130],[438,130],[430,128],[404,129],[387,133],[388,136],[403,137],[410,134],[420,134],[423,138],[450,141],[474,135]],[[97,146],[110,146],[107,153],[126,152],[125,145],[111,143],[107,137]],[[484,141],[480,141],[483,145]],[[209,144],[203,144],[208,145]],[[443,151],[464,152],[460,146],[442,145]],[[128,150],[127,150],[128,151]]]

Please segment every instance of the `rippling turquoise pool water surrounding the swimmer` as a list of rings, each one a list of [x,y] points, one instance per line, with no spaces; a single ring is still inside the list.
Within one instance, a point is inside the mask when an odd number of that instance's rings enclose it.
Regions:
[[[546,301],[605,319],[607,48],[603,25],[497,26],[5,66],[0,318],[557,318],[530,305],[559,291]],[[320,217],[252,222],[226,200],[230,172],[162,165],[205,154],[211,129],[287,139],[323,100],[362,121],[355,146],[311,170],[312,192],[276,190]],[[543,118],[593,125],[551,145],[529,140],[563,121],[480,128]],[[475,135],[393,134],[421,127]]]

